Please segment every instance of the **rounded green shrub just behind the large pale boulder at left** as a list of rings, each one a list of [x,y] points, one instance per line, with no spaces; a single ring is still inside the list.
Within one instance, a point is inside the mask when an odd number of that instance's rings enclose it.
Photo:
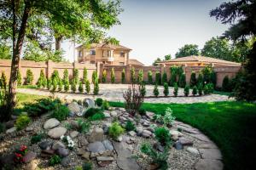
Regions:
[[[59,121],[64,121],[69,116],[69,109],[66,105],[57,104],[55,105],[55,110],[51,114],[52,117],[58,119]]]

